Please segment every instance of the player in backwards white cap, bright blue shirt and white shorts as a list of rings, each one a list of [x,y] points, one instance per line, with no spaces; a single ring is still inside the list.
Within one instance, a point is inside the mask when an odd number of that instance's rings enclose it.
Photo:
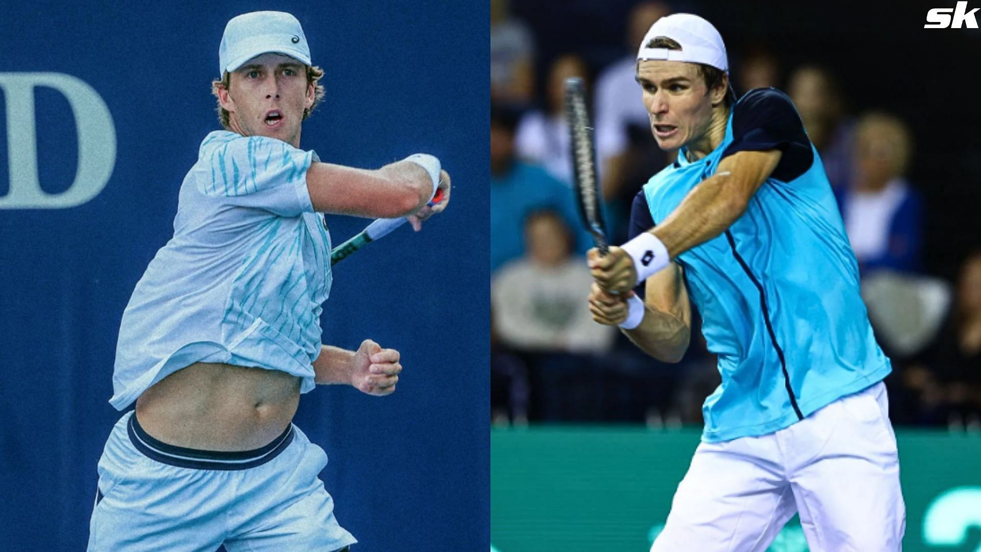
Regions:
[[[796,512],[815,552],[900,550],[890,361],[797,110],[773,88],[736,101],[721,36],[688,14],[651,26],[637,81],[654,138],[678,158],[638,193],[633,238],[590,251],[590,308],[676,362],[694,302],[722,374],[651,550],[765,550]]]

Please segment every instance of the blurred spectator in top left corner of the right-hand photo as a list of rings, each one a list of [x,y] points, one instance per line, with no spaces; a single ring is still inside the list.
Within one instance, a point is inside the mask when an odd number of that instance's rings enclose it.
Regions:
[[[535,93],[535,38],[511,18],[507,0],[490,0],[490,100],[524,105]]]

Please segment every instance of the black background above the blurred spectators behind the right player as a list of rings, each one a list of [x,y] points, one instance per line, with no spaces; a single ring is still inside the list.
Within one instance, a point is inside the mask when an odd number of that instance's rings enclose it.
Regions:
[[[591,77],[628,51],[631,0],[512,0],[511,14],[534,29],[539,90],[551,60],[584,56]],[[981,29],[923,28],[931,8],[955,0],[905,2],[669,1],[718,28],[738,80],[740,58],[764,47],[777,57],[783,84],[801,63],[830,68],[850,115],[884,109],[913,134],[909,181],[923,194],[923,268],[954,278],[970,248],[981,245]],[[981,2],[968,2],[968,11]],[[975,19],[981,24],[981,10]],[[630,48],[636,52],[636,48]],[[742,92],[741,92],[742,93]]]

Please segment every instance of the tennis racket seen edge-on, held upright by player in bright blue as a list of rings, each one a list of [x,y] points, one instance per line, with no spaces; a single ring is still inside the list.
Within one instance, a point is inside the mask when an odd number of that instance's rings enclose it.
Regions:
[[[579,214],[586,230],[593,236],[599,254],[606,256],[606,222],[603,220],[602,195],[596,178],[596,148],[590,110],[586,103],[586,85],[582,79],[565,80],[565,116],[569,123],[569,146],[572,150],[572,170],[576,177],[576,198]]]

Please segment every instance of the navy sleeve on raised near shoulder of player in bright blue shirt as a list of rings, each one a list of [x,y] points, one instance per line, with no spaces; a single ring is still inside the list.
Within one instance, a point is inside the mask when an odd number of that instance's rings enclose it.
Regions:
[[[770,174],[783,182],[798,178],[814,162],[810,139],[791,98],[776,88],[756,88],[733,106],[733,141],[722,156],[767,149],[783,152]]]

